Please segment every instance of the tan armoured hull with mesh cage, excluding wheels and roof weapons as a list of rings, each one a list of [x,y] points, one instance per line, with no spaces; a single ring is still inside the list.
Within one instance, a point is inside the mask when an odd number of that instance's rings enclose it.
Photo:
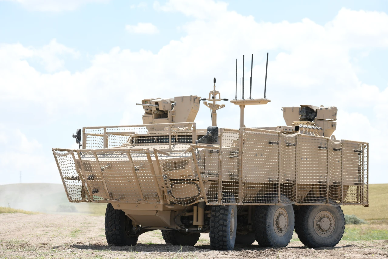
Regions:
[[[69,201],[112,203],[154,228],[176,228],[174,218],[188,206],[193,212],[185,215],[203,220],[199,202],[368,205],[368,143],[241,128],[196,145],[204,130],[195,123],[136,133],[146,126],[84,128],[86,149],[53,149]]]

